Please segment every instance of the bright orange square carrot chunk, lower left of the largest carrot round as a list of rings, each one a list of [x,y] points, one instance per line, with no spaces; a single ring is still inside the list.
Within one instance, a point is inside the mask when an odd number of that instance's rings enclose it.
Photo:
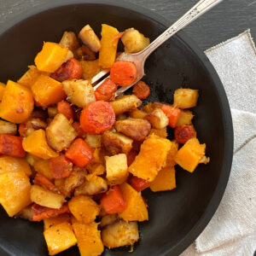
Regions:
[[[77,138],[67,149],[66,156],[76,166],[84,167],[92,160],[93,152],[83,139]]]

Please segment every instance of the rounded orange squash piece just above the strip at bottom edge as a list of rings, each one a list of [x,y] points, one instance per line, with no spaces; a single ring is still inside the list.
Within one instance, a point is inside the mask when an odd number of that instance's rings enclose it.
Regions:
[[[74,196],[71,201],[68,201],[68,207],[73,216],[84,223],[94,221],[101,210],[96,201],[87,195]]]

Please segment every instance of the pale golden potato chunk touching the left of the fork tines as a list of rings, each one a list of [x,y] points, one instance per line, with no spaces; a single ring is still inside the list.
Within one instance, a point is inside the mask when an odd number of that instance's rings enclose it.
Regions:
[[[63,83],[67,100],[79,108],[84,108],[90,102],[95,102],[94,90],[88,80],[67,80]]]

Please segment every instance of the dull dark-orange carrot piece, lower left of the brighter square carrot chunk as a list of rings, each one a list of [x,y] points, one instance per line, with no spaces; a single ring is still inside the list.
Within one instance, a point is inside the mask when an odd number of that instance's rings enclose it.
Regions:
[[[49,160],[49,171],[54,178],[68,177],[72,168],[72,162],[63,154]]]

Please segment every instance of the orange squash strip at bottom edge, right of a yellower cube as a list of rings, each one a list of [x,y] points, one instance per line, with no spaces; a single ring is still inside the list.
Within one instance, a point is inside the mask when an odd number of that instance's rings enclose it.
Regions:
[[[79,221],[72,221],[73,230],[78,240],[81,256],[101,255],[104,251],[101,231],[97,229],[98,224],[92,222],[84,224]]]

